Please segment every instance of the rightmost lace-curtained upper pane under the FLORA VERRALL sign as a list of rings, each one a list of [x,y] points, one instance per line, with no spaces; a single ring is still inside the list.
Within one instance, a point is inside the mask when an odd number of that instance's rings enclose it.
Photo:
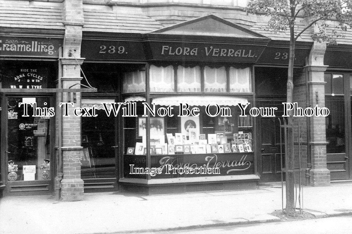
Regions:
[[[251,69],[230,67],[230,93],[252,92]]]

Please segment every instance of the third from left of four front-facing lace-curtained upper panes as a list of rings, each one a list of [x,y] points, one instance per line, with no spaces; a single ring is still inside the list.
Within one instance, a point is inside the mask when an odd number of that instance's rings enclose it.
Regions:
[[[226,92],[226,68],[204,67],[204,92]]]

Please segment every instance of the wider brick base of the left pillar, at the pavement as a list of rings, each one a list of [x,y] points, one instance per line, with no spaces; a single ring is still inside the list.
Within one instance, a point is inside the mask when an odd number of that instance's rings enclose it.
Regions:
[[[83,200],[83,180],[82,179],[61,180],[61,200],[62,201]]]

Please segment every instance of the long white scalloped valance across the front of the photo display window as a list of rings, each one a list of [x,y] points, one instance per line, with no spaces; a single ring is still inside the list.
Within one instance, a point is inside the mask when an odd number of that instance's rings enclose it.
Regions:
[[[152,103],[160,106],[179,106],[180,103],[187,103],[190,106],[236,106],[238,103],[248,103],[246,98],[230,97],[230,96],[195,96],[195,95],[172,95],[162,98],[154,98]]]

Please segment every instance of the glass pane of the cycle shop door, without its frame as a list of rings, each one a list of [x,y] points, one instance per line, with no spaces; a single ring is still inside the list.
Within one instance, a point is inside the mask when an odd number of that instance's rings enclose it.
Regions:
[[[24,117],[20,102],[36,102],[38,107],[50,107],[49,98],[8,98],[8,179],[50,180],[50,117]]]

